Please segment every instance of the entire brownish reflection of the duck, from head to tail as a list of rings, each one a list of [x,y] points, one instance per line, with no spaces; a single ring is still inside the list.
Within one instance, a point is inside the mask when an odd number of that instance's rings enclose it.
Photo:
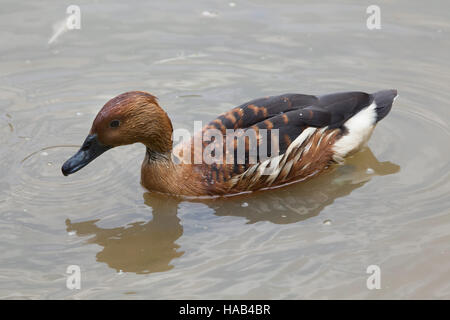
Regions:
[[[231,198],[189,200],[201,202],[219,216],[245,217],[249,223],[270,221],[294,223],[318,215],[335,199],[350,194],[375,175],[396,173],[400,167],[379,162],[370,149],[359,152],[343,166],[331,168],[309,181],[270,191],[255,192]],[[80,236],[93,235],[88,241],[103,247],[97,261],[124,272],[151,273],[172,269],[170,264],[183,252],[176,244],[183,234],[177,217],[183,199],[144,193],[145,203],[153,209],[153,219],[118,228],[100,228],[98,220],[71,223],[67,231]]]

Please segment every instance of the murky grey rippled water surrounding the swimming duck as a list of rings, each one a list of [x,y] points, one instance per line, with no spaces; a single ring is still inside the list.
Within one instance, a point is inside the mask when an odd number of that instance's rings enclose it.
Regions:
[[[450,298],[450,5],[378,1],[369,31],[368,4],[341,2],[80,0],[49,45],[66,3],[1,0],[0,297]],[[369,149],[287,188],[150,194],[140,145],[60,171],[125,91],[192,129],[256,97],[387,88]]]

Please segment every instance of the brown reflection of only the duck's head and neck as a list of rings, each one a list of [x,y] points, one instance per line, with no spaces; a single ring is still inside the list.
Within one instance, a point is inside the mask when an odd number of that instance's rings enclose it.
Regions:
[[[72,223],[66,220],[67,231],[79,236],[93,235],[89,243],[103,247],[97,261],[123,272],[151,273],[173,268],[170,262],[183,254],[175,241],[183,234],[177,216],[179,201],[168,196],[144,194],[145,203],[153,208],[153,219],[112,229],[100,228],[90,220]]]

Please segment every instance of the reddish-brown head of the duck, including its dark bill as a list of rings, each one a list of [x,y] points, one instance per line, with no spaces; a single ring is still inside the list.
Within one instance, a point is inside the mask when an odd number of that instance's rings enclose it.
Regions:
[[[65,176],[77,172],[105,151],[141,142],[157,153],[172,149],[172,123],[155,96],[126,92],[109,100],[95,117],[80,150],[62,166]]]

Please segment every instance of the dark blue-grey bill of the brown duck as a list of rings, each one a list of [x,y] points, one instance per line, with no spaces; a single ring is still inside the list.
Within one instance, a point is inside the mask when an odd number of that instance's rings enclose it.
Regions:
[[[107,146],[98,141],[96,134],[90,134],[84,140],[80,150],[75,153],[69,160],[64,162],[61,170],[65,176],[77,172],[89,162],[97,158],[106,150],[111,149],[111,146]]]

